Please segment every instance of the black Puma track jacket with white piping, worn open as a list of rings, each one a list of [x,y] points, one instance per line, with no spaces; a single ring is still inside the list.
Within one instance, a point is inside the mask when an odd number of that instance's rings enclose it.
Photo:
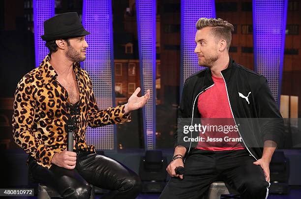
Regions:
[[[281,147],[284,140],[284,122],[267,79],[237,64],[231,57],[228,67],[221,71],[221,75],[226,84],[228,102],[235,122],[243,124],[239,126],[239,133],[243,140],[242,144],[250,155],[256,160],[260,159],[263,143],[266,140],[274,141],[277,147]],[[202,115],[197,108],[198,96],[213,84],[209,68],[187,78],[183,86],[179,118],[201,118]],[[251,92],[248,96],[249,103],[240,96],[239,92],[244,96]],[[203,106],[210,106],[210,104]],[[265,119],[256,121],[256,118]],[[179,133],[174,134],[175,146],[181,145],[178,143]],[[187,148],[186,155],[189,151],[191,152],[191,148]]]

